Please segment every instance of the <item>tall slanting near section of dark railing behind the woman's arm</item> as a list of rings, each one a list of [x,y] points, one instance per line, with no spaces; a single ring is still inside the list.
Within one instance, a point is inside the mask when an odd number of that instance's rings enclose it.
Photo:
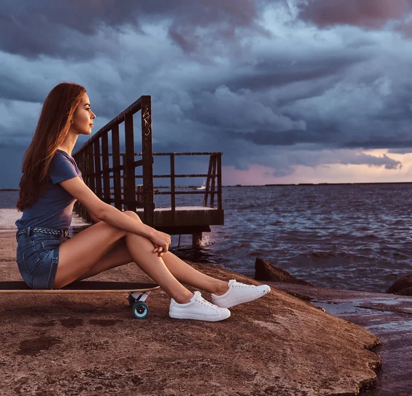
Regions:
[[[142,159],[135,161],[135,137],[133,133],[133,115],[141,112],[141,144]],[[119,124],[124,121],[125,161],[120,163]],[[109,166],[108,132],[111,132],[112,166]],[[141,96],[131,106],[117,115],[102,129],[96,132],[82,147],[73,154],[78,167],[82,171],[84,183],[104,202],[114,202],[117,209],[122,204],[127,210],[136,211],[136,178],[135,168],[143,167],[144,178],[144,222],[154,226],[153,202],[153,156],[152,156],[152,106],[150,96]],[[121,172],[123,171],[123,175]],[[113,192],[111,198],[110,173],[113,172]],[[124,194],[122,194],[122,180]],[[78,202],[76,202],[76,205]],[[76,212],[91,221],[86,209],[80,205]]]

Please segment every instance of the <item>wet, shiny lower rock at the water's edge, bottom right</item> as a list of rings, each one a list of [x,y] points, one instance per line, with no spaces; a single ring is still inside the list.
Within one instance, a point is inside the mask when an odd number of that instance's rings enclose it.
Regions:
[[[326,312],[357,323],[379,337],[380,345],[375,350],[382,358],[378,380],[362,395],[412,395],[412,297],[287,283],[268,284],[304,296]]]

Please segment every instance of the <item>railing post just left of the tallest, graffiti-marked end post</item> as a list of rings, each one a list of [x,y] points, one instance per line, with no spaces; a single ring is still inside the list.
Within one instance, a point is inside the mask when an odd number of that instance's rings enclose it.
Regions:
[[[135,178],[135,136],[133,134],[133,114],[124,117],[124,143],[126,145],[126,207],[128,211],[136,211],[136,178]]]

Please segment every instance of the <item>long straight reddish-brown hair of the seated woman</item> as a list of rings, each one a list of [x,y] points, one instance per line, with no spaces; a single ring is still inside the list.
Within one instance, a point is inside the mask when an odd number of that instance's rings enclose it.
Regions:
[[[47,172],[56,150],[65,141],[73,113],[86,93],[84,86],[61,82],[47,95],[36,132],[23,156],[17,209],[30,207],[47,185]]]

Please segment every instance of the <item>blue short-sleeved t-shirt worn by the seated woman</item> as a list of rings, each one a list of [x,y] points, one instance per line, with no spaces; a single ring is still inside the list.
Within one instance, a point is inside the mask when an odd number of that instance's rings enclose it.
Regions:
[[[40,194],[31,207],[25,208],[23,216],[14,223],[18,229],[28,226],[47,229],[70,228],[76,198],[58,183],[76,176],[83,180],[82,172],[72,156],[58,149],[50,163],[48,176],[45,193]]]

